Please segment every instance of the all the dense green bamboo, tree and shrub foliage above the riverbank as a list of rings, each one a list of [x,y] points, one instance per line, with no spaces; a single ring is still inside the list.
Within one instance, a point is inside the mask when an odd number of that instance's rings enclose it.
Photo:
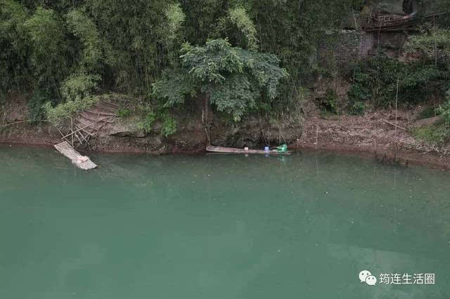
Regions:
[[[450,7],[450,0],[420,2],[427,11]],[[8,93],[30,93],[30,117],[56,121],[91,105],[96,95],[124,93],[148,106],[139,113],[143,130],[158,120],[164,135],[176,128],[170,109],[185,100],[207,100],[234,120],[257,110],[283,114],[317,75],[340,75],[332,59],[319,66],[317,50],[333,35],[327,32],[345,27],[363,4],[0,0],[0,101]],[[439,16],[411,37],[406,50],[423,53],[420,61],[378,56],[357,65],[347,111],[394,105],[397,79],[400,105],[442,98],[450,89],[449,24],[448,15]],[[323,105],[340,112],[337,98],[330,90]]]

